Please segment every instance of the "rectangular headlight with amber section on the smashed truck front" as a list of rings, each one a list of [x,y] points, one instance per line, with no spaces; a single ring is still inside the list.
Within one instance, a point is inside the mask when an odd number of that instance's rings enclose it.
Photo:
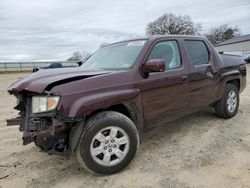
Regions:
[[[54,110],[58,103],[59,96],[33,96],[32,113],[41,113]]]

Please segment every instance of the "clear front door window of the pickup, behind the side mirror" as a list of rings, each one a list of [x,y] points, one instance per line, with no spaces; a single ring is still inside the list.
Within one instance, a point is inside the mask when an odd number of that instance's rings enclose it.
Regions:
[[[164,41],[157,43],[151,51],[148,60],[164,59],[166,69],[176,69],[181,67],[181,58],[176,41]]]

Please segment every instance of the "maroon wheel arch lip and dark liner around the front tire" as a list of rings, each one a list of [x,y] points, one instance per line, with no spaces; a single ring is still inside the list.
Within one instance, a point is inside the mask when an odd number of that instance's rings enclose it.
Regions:
[[[140,105],[140,95],[139,94],[139,90],[138,89],[132,89],[132,90],[119,90],[116,92],[106,92],[106,93],[100,93],[97,95],[92,95],[91,97],[83,97],[79,100],[77,100],[73,105],[72,108],[70,110],[71,115],[77,115],[77,116],[82,116],[82,115],[86,115],[90,114],[93,111],[96,111],[98,109],[101,108],[107,108],[110,107],[112,105],[115,105],[117,103],[119,103],[120,101],[124,101],[124,100],[130,100],[131,98],[135,98],[134,102],[135,104],[129,102],[129,103],[122,103],[127,110],[129,111],[129,114],[131,116],[131,120],[135,123],[138,132],[139,132],[139,136],[140,136],[140,141],[142,141],[142,132],[144,129],[144,120],[142,117],[142,111],[140,110],[140,108],[137,107],[137,105]],[[99,98],[98,98],[99,97]],[[91,100],[90,100],[91,99]],[[106,101],[110,101],[113,100],[113,103],[111,104],[110,102],[107,103]],[[87,100],[87,102],[85,101]],[[89,102],[93,102],[92,104],[89,104]],[[119,102],[118,102],[119,101]],[[81,102],[81,103],[80,103]],[[103,104],[102,106],[100,106],[101,104]],[[120,103],[121,104],[121,103]],[[87,109],[87,106],[95,106],[95,109]],[[73,112],[73,113],[72,113]],[[77,123],[76,125],[74,125],[71,128],[70,134],[69,134],[69,154],[71,154],[78,142],[79,142],[79,138],[82,134],[84,125],[85,125],[85,117],[84,120],[82,122]]]

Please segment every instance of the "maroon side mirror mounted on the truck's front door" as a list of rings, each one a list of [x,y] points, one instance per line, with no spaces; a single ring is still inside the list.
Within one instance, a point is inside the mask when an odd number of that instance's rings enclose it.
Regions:
[[[143,70],[145,73],[164,72],[165,61],[164,59],[151,59],[144,64]]]

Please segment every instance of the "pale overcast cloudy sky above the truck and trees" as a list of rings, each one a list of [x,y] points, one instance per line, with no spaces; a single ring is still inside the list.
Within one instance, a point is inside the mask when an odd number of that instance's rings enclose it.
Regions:
[[[189,15],[203,32],[250,33],[250,0],[0,0],[0,61],[65,60],[75,51],[144,36],[164,13]]]

